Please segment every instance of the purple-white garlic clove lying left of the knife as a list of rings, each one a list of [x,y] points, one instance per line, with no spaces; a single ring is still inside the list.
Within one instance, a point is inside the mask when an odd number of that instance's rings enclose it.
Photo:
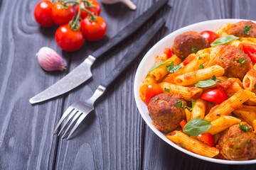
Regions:
[[[40,66],[46,71],[62,71],[65,69],[66,64],[63,58],[49,47],[41,47],[36,55],[38,56]]]

